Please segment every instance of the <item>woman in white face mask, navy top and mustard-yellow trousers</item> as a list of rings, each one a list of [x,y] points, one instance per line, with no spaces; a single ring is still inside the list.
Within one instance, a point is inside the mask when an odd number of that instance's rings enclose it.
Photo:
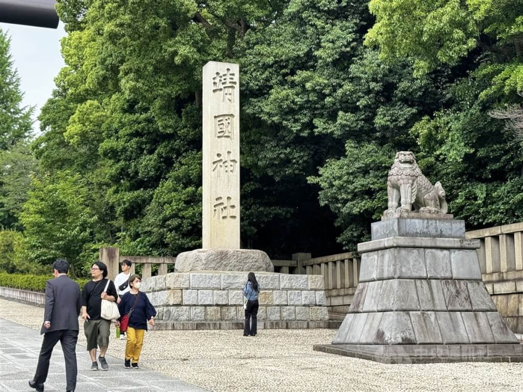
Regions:
[[[123,294],[118,309],[120,314],[129,315],[127,327],[126,361],[124,367],[138,369],[138,360],[142,351],[143,336],[147,330],[147,320],[154,326],[156,310],[145,293],[140,292],[142,280],[139,275],[131,275],[129,286],[131,291]]]

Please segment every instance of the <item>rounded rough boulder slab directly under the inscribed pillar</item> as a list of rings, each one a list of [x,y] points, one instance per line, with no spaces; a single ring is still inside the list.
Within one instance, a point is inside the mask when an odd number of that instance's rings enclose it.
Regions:
[[[274,272],[267,253],[256,249],[195,249],[176,257],[175,271]]]

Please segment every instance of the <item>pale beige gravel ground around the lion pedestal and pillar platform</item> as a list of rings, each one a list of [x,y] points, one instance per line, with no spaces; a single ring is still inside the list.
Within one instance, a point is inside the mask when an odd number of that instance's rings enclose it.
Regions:
[[[43,308],[0,299],[0,317],[40,329]],[[82,325],[82,324],[81,324]],[[0,331],[1,333],[1,331]],[[213,391],[523,391],[523,364],[384,365],[312,351],[335,330],[150,331],[140,364]],[[123,359],[114,337],[108,353]],[[79,344],[85,344],[83,331]],[[87,353],[85,354],[87,355]]]

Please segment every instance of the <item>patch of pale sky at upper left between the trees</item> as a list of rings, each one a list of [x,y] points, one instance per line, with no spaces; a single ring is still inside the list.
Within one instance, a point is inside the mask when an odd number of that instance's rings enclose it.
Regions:
[[[64,66],[60,53],[60,39],[66,35],[60,22],[58,29],[0,23],[0,28],[11,37],[11,55],[20,77],[24,93],[22,106],[36,106],[33,112],[33,130],[39,133],[36,120],[40,109],[51,97],[54,78]]]

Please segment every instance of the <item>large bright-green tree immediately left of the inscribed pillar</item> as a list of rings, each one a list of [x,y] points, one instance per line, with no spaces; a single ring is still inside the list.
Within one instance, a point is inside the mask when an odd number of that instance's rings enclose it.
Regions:
[[[97,241],[198,246],[201,67],[233,59],[284,3],[59,1],[66,66],[35,152],[43,168],[85,178]]]

